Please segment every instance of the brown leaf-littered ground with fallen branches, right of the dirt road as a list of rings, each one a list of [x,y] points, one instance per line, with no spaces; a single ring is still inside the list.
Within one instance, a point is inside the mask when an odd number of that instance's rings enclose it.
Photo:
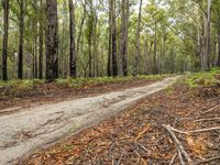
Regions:
[[[185,76],[22,165],[220,164],[220,70]]]

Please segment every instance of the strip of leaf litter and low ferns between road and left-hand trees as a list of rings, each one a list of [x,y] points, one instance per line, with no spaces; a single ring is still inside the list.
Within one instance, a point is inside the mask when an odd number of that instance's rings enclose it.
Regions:
[[[168,75],[125,78],[69,78],[57,79],[53,84],[45,84],[43,80],[0,81],[0,114],[18,111],[21,108],[35,107],[36,105],[54,103],[146,86],[165,77],[168,77]]]

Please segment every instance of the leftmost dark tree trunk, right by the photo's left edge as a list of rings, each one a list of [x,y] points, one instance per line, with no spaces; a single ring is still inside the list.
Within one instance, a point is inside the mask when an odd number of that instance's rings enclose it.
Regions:
[[[3,1],[3,51],[2,51],[2,79],[8,80],[8,31],[9,31],[9,0]]]

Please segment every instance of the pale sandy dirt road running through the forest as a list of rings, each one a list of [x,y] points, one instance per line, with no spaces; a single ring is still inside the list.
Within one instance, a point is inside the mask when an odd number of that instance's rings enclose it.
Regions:
[[[36,148],[124,110],[170,86],[179,76],[150,86],[25,109],[0,117],[0,165],[18,163]]]

